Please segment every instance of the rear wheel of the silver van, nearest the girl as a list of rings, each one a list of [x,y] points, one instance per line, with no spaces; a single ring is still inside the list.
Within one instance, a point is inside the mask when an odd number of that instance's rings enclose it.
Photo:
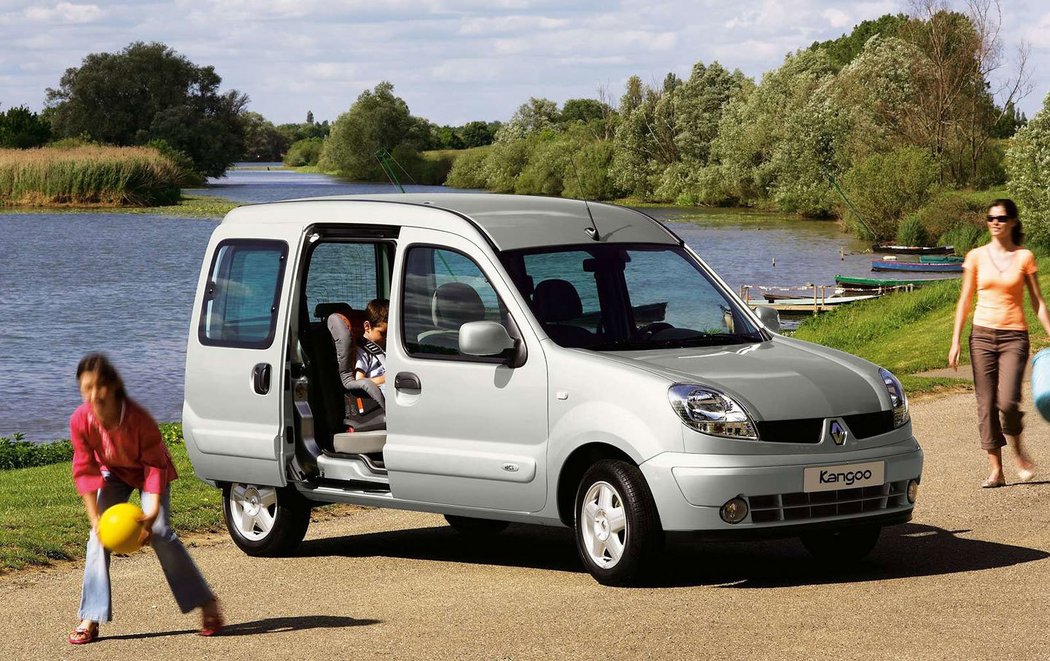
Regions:
[[[242,551],[273,557],[290,553],[306,537],[310,504],[294,487],[234,482],[223,488],[223,517]]]

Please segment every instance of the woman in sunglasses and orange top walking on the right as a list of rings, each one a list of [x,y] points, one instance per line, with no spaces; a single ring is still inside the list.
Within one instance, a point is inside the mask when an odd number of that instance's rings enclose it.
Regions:
[[[1005,445],[1013,447],[1018,481],[1029,482],[1035,476],[1035,465],[1021,443],[1024,415],[1021,383],[1028,362],[1025,289],[1040,323],[1050,334],[1050,314],[1040,292],[1035,256],[1030,250],[1021,248],[1024,233],[1013,200],[996,199],[991,204],[988,232],[991,240],[967,253],[963,262],[963,286],[956,306],[951,348],[948,349],[948,364],[958,369],[960,338],[976,293],[970,362],[978,398],[981,447],[988,452],[991,468],[988,478],[981,484],[986,489],[1006,485]]]

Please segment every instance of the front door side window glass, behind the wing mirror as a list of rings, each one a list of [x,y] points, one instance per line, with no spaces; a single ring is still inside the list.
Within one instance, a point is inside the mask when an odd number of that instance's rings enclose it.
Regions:
[[[506,308],[481,268],[466,255],[417,246],[405,255],[401,333],[413,356],[459,357],[459,329],[470,321],[504,323]]]

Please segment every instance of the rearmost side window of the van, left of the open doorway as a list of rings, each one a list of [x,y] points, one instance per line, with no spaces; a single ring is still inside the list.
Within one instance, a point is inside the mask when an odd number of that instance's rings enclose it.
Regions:
[[[267,348],[276,330],[288,243],[223,241],[208,274],[197,336],[202,344]]]

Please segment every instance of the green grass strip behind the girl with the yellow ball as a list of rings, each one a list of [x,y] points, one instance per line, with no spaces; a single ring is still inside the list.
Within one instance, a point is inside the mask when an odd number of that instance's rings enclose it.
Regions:
[[[171,520],[180,534],[223,530],[218,489],[200,481],[186,455],[181,425],[164,425],[178,479]],[[84,557],[88,523],[69,462],[0,471],[0,575]]]

